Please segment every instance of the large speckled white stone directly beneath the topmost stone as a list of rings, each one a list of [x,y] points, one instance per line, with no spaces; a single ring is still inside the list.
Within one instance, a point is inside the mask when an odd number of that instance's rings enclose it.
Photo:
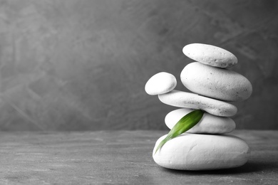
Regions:
[[[193,93],[218,100],[242,101],[252,94],[252,85],[243,75],[202,63],[186,65],[180,79]]]

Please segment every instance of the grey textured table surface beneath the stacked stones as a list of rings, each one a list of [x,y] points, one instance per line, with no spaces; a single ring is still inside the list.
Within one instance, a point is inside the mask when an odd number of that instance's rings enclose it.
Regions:
[[[167,131],[0,132],[0,184],[278,184],[278,131],[237,130],[252,150],[235,169],[177,171],[155,164]]]

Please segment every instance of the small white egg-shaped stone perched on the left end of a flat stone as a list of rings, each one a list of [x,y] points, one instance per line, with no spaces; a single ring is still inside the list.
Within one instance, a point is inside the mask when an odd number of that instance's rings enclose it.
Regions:
[[[160,72],[153,75],[145,84],[145,92],[149,95],[161,95],[175,88],[177,80],[170,73]]]

